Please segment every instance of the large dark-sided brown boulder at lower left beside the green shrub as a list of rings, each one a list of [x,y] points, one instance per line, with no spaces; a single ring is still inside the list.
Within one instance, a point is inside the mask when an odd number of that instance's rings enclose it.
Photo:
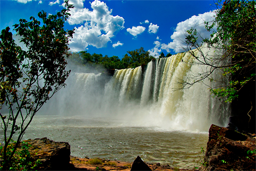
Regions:
[[[55,142],[47,138],[26,140],[33,160],[40,159],[40,170],[74,170],[70,164],[70,144]]]

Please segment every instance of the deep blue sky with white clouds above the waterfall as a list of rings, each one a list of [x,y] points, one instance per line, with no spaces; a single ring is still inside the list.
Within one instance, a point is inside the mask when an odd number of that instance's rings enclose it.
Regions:
[[[74,4],[65,28],[75,28],[72,52],[122,58],[128,50],[143,47],[152,56],[183,52],[184,33],[197,27],[208,36],[203,21],[215,15],[214,0],[70,0]],[[1,0],[0,29],[29,20],[41,10],[55,14],[63,0]]]

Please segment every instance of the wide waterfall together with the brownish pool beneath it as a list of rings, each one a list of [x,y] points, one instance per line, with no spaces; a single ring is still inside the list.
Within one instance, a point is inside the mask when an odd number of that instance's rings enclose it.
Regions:
[[[211,98],[208,87],[219,82],[204,80],[182,89],[183,80],[207,70],[190,53],[180,53],[147,67],[116,70],[113,76],[72,73],[24,139],[66,141],[79,157],[132,162],[139,155],[147,162],[192,169],[200,165],[210,125],[228,122],[228,104]]]

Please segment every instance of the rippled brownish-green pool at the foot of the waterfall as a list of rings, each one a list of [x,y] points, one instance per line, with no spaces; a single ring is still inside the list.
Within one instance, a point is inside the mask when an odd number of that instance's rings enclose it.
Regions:
[[[208,133],[161,130],[110,118],[38,115],[24,139],[43,137],[69,142],[76,157],[132,162],[140,156],[149,163],[194,168],[200,166],[200,150],[206,148]]]

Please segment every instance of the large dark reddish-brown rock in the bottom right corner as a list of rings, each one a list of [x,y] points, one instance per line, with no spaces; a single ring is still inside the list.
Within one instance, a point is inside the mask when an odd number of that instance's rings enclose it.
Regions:
[[[256,170],[256,137],[253,135],[211,125],[206,156],[199,170]]]

